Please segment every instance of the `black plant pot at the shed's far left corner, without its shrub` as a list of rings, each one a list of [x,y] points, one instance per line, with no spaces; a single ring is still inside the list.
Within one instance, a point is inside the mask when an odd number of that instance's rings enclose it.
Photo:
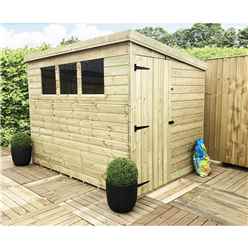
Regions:
[[[28,165],[31,161],[32,146],[30,147],[11,147],[11,156],[15,165]]]

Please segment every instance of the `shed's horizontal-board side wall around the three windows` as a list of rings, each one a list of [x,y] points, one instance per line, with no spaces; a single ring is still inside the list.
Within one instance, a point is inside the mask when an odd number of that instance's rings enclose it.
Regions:
[[[129,46],[107,47],[53,57],[28,66],[33,159],[97,186],[104,185],[108,162],[128,157]],[[104,58],[105,94],[41,94],[40,67]]]

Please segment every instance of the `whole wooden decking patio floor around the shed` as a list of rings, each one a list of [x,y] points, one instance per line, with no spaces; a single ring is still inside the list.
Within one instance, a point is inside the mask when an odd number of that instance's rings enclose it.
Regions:
[[[116,214],[105,191],[38,165],[15,167],[2,151],[2,225],[247,225],[248,171],[213,165],[207,178],[189,174]]]

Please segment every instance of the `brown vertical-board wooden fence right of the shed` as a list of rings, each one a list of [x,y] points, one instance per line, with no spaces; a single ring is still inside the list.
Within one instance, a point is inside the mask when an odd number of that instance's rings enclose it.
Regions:
[[[248,167],[248,55],[207,62],[205,141],[209,155]]]

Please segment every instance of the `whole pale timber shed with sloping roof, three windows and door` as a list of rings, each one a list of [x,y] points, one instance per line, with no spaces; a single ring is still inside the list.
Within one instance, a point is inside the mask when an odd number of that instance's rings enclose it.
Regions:
[[[133,31],[26,62],[35,163],[104,187],[108,162],[128,157],[143,193],[192,171],[204,62]]]

